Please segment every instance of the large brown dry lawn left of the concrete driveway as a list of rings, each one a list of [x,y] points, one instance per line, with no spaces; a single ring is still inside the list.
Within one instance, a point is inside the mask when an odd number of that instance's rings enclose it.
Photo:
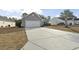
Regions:
[[[0,29],[0,50],[19,50],[28,41],[24,29]]]

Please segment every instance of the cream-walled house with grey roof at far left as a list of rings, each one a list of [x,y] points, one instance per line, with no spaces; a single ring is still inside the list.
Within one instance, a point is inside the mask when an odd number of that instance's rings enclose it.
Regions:
[[[15,21],[0,17],[0,27],[15,27]]]

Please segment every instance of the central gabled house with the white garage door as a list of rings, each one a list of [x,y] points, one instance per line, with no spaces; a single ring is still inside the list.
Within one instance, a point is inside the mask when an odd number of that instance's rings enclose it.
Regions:
[[[44,23],[38,14],[32,12],[31,14],[27,15],[25,18],[22,19],[22,27],[25,28],[36,28],[42,26]]]

